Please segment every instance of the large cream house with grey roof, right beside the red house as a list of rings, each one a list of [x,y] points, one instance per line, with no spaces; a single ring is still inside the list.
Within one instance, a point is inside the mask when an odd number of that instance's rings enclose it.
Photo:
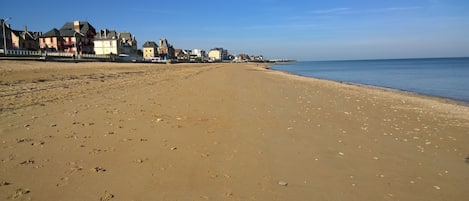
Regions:
[[[118,33],[115,30],[102,29],[93,42],[96,55],[137,54],[137,40],[129,32]]]

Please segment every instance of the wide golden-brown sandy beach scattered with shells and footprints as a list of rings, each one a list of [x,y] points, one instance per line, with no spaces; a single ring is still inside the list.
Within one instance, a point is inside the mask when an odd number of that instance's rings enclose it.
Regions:
[[[468,200],[469,111],[258,64],[0,61],[0,200]]]

